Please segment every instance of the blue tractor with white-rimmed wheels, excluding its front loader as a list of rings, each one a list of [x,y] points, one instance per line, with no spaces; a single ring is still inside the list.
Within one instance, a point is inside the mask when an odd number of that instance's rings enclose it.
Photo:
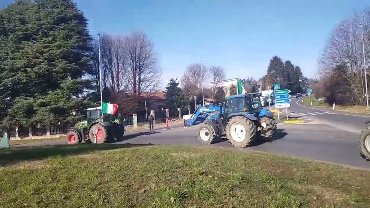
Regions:
[[[274,114],[262,108],[260,96],[260,93],[232,95],[226,98],[221,111],[203,111],[208,117],[199,124],[198,140],[212,144],[217,136],[226,136],[235,147],[247,147],[257,139],[270,141],[277,126]]]

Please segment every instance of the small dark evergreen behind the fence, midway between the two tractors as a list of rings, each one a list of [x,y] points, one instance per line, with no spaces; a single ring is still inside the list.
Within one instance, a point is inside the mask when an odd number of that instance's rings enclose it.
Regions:
[[[189,104],[189,100],[186,98],[185,93],[179,87],[177,79],[171,78],[166,86],[166,107],[169,109],[184,108]]]

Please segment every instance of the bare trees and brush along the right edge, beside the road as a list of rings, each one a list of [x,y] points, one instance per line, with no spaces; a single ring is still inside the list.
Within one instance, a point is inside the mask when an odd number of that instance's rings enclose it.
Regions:
[[[369,41],[369,9],[354,11],[333,28],[318,59],[318,82],[313,87],[316,97],[325,97],[330,104],[366,105],[366,84],[370,82]]]

